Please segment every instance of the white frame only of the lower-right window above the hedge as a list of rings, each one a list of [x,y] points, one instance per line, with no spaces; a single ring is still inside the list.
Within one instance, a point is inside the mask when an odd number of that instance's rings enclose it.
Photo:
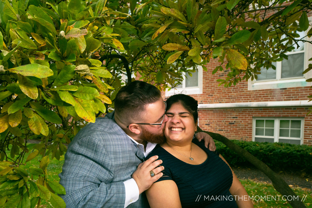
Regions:
[[[256,135],[256,120],[274,120],[274,136],[258,136]],[[301,121],[301,131],[300,131],[300,138],[292,138],[292,137],[280,137],[280,120],[300,120]],[[294,118],[294,117],[255,117],[252,118],[252,141],[255,141],[255,137],[258,138],[274,138],[274,142],[278,142],[279,139],[290,139],[290,140],[300,140],[300,145],[303,144],[303,131],[304,127],[304,118]]]

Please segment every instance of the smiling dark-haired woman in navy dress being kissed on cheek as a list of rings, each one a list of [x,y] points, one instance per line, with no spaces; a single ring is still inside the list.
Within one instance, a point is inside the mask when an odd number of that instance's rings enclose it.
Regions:
[[[225,159],[193,140],[197,101],[184,94],[167,100],[166,143],[149,157],[163,161],[163,176],[147,191],[151,207],[253,207]]]

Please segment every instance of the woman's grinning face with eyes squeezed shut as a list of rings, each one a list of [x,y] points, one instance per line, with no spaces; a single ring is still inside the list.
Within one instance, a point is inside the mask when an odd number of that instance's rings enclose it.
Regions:
[[[174,103],[166,111],[168,121],[165,125],[165,137],[169,142],[184,142],[193,139],[197,124],[193,115],[182,104]]]

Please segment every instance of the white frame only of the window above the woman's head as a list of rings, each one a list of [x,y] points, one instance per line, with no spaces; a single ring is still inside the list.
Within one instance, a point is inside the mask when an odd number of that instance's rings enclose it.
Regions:
[[[185,87],[185,72],[183,74],[182,88],[166,89],[165,96],[169,97],[174,94],[202,94],[202,66],[197,66],[198,69],[198,86],[196,87]]]

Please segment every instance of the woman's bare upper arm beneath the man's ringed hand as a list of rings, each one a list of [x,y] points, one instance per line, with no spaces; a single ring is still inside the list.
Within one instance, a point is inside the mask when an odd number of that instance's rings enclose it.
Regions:
[[[182,208],[178,186],[173,180],[155,182],[145,193],[151,208]]]

